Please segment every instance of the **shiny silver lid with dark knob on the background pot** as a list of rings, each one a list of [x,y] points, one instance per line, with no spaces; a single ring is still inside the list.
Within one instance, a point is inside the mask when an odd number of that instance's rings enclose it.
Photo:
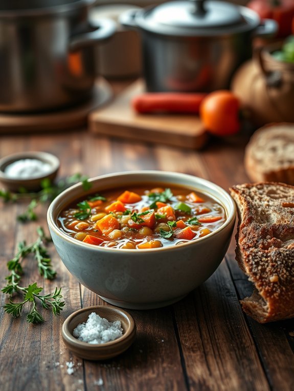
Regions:
[[[186,0],[147,9],[136,21],[140,27],[161,34],[214,35],[252,29],[252,25],[258,25],[259,17],[252,10],[231,3]]]

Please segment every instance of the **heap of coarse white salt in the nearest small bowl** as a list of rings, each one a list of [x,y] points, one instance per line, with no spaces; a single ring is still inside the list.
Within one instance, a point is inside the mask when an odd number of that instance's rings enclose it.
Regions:
[[[88,344],[104,344],[123,335],[120,321],[109,322],[97,313],[92,312],[86,322],[80,323],[73,335]]]

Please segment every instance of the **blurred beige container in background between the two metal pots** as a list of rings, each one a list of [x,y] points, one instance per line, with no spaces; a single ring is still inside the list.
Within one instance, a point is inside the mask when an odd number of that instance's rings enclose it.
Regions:
[[[141,37],[137,31],[125,30],[119,17],[133,5],[108,4],[91,10],[91,19],[111,19],[116,23],[115,36],[95,47],[95,60],[98,75],[107,78],[126,78],[139,76],[142,68]],[[139,7],[138,7],[139,9]]]

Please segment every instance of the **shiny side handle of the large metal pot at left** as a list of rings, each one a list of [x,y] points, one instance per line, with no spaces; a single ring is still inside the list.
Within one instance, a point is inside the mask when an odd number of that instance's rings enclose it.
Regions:
[[[91,27],[95,29],[88,33],[74,35],[69,44],[70,51],[74,52],[86,46],[92,46],[101,41],[112,37],[115,34],[117,27],[116,23],[110,19],[97,19],[95,25],[91,22]]]

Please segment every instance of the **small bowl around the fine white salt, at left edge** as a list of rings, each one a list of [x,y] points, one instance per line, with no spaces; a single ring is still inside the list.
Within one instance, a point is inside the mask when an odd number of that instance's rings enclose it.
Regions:
[[[44,163],[49,163],[51,165],[51,170],[44,175],[26,179],[11,178],[5,174],[5,169],[9,164],[22,159],[36,159]],[[56,178],[59,166],[59,159],[47,152],[32,151],[8,155],[0,159],[0,182],[2,182],[3,185],[10,191],[17,192],[20,188],[24,188],[28,191],[35,191],[41,188],[41,182],[43,179],[48,178],[53,181]]]

